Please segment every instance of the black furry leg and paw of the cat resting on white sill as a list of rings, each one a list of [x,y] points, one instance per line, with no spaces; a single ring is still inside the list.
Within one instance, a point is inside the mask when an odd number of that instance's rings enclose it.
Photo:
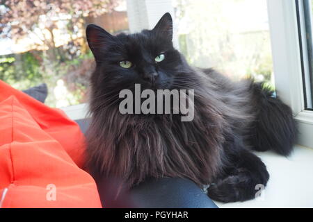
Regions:
[[[220,202],[236,202],[255,198],[257,185],[267,184],[265,164],[248,151],[241,139],[231,139],[223,146],[227,161],[209,186],[208,195]]]

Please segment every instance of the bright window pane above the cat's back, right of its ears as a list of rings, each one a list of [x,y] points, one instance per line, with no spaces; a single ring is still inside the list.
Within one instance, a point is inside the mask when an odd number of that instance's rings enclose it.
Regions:
[[[266,0],[175,0],[175,8],[188,62],[274,86]]]

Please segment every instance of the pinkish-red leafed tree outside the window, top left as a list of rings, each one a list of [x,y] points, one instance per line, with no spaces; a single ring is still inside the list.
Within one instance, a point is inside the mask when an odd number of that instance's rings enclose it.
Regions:
[[[84,17],[110,12],[119,0],[0,0],[0,37],[29,37],[33,49],[55,49],[55,34],[83,35]]]

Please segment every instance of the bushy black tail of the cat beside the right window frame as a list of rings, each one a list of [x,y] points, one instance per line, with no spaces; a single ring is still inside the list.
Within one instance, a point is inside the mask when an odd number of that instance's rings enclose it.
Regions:
[[[273,150],[289,155],[297,133],[291,108],[264,83],[252,83],[251,91],[257,118],[248,133],[249,144],[255,151]]]

